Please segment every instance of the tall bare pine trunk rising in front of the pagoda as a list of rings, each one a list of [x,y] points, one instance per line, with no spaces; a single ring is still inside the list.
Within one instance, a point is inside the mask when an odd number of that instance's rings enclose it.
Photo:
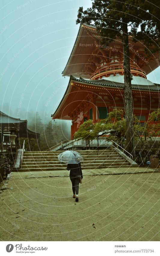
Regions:
[[[124,95],[125,95],[125,116],[126,116],[126,150],[133,155],[135,159],[135,142],[134,142],[134,127],[133,127],[133,99],[131,88],[131,71],[128,46],[128,27],[125,19],[123,22],[123,53],[124,53]]]

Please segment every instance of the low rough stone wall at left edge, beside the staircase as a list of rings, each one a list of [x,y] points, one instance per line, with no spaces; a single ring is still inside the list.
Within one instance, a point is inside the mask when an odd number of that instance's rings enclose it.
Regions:
[[[4,167],[4,174],[11,172],[15,156],[16,152],[0,152],[0,167]]]

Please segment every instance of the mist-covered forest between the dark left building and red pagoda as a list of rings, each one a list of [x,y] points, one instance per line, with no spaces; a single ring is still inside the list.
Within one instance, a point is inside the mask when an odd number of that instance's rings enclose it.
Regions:
[[[2,112],[14,117],[20,118],[22,120],[27,119],[27,128],[40,133],[40,145],[38,146],[38,141],[36,139],[31,139],[31,146],[29,149],[28,138],[20,138],[20,147],[23,147],[23,141],[25,140],[25,149],[31,151],[43,151],[56,144],[61,143],[61,141],[70,140],[70,122],[65,120],[52,120],[52,111],[39,113],[33,109],[26,110],[21,109],[20,116],[17,116],[18,109],[12,110],[9,103],[4,103],[1,106]]]

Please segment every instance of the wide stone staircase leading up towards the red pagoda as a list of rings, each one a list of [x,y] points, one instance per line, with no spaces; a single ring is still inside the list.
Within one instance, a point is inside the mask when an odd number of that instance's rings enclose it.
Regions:
[[[64,170],[67,164],[60,163],[58,155],[63,151],[26,151],[23,155],[22,168],[19,171]],[[115,150],[80,150],[83,156],[82,169],[108,167],[128,167],[131,164]]]

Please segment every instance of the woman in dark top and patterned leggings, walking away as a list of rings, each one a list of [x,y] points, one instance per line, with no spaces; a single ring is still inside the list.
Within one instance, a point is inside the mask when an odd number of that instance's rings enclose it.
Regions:
[[[73,198],[76,198],[76,202],[78,202],[80,177],[83,179],[81,164],[72,160],[70,163],[68,162],[67,170],[70,170],[69,177],[72,182]]]

